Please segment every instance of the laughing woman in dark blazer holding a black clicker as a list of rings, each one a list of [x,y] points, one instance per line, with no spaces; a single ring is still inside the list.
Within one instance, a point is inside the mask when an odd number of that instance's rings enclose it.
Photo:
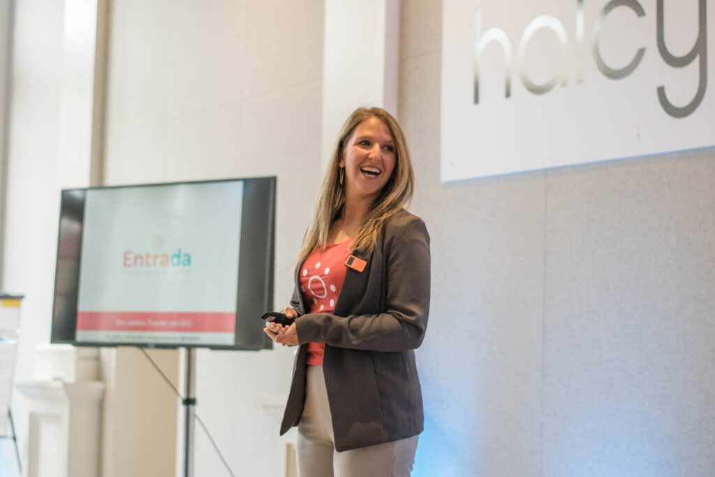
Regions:
[[[303,477],[409,476],[423,430],[413,350],[430,301],[425,224],[395,119],[359,108],[342,127],[300,250],[290,327],[300,345],[281,434],[298,426]]]

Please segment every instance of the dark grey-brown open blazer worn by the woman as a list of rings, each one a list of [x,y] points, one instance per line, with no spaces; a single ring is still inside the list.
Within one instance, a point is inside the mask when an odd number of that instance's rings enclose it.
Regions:
[[[368,264],[347,269],[333,314],[305,314],[295,270],[290,302],[298,312],[298,350],[280,433],[297,426],[305,403],[307,343],[325,343],[323,372],[335,449],[347,451],[415,436],[423,430],[414,349],[430,308],[430,236],[406,210],[390,217]]]

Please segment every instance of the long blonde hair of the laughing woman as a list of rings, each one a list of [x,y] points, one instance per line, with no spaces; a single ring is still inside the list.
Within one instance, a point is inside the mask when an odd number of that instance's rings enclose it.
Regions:
[[[358,124],[373,117],[380,119],[390,129],[390,134],[395,141],[395,170],[380,195],[373,202],[373,206],[363,217],[358,233],[352,242],[353,249],[360,252],[371,252],[385,220],[388,220],[391,215],[403,207],[407,207],[412,200],[415,176],[410,161],[410,152],[400,124],[385,109],[378,107],[355,109],[345,124],[342,124],[335,147],[332,149],[330,164],[322,180],[317,205],[298,254],[298,265],[315,248],[323,248],[327,245],[330,225],[340,217],[342,207],[345,206],[345,187],[340,184],[338,179],[338,169],[340,169],[338,164],[343,158],[344,148],[347,145],[347,140],[352,136],[352,132],[355,131]]]

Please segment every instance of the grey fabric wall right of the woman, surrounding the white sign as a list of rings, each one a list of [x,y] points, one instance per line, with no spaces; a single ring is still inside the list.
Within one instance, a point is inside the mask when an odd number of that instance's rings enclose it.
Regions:
[[[443,184],[441,2],[402,9],[433,240],[415,475],[714,476],[715,149]]]

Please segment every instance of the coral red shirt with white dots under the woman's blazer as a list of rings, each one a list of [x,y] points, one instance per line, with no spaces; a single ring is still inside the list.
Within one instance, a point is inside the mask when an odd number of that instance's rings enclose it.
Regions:
[[[310,252],[300,267],[300,292],[306,313],[332,313],[337,295],[345,281],[345,258],[350,253],[352,239],[328,244],[325,250]],[[325,343],[308,343],[307,363],[322,365]]]

